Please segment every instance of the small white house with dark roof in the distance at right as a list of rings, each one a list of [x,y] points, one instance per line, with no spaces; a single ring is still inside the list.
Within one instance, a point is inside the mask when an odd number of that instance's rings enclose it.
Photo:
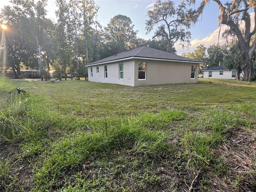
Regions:
[[[202,70],[204,78],[236,79],[236,69],[227,69],[223,65]],[[243,74],[240,74],[243,77]]]

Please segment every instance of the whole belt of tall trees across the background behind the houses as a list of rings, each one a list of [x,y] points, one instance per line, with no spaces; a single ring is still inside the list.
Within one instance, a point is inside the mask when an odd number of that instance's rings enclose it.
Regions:
[[[235,37],[236,49],[232,45],[219,44],[208,48],[200,45],[192,53],[184,54],[190,58],[206,62],[204,67],[234,63],[244,70],[244,80],[254,80],[256,22],[255,0],[228,1],[213,0],[219,7],[219,24],[227,25],[224,35]],[[176,53],[174,44],[189,46],[190,26],[198,22],[204,7],[210,0],[203,0],[199,7],[188,10],[188,5],[196,0],[173,1],[156,0],[148,10],[146,32],[155,30],[150,40],[138,38],[132,20],[125,15],[116,15],[107,26],[102,27],[97,20],[99,6],[94,0],[56,0],[56,22],[46,18],[47,0],[11,0],[0,12],[0,24],[7,22],[8,28],[0,30],[1,71],[12,69],[20,78],[21,69],[38,69],[48,75],[50,70],[58,74],[68,73],[87,75],[86,64],[111,56],[125,50],[148,46]],[[254,13],[254,14],[253,14]],[[4,53],[4,54],[3,54]],[[4,55],[4,57],[3,57]],[[4,64],[6,64],[4,66]]]

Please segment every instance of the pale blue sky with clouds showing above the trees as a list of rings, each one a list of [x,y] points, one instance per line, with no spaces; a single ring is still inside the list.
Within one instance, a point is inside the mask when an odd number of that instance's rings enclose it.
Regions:
[[[36,1],[36,0],[35,0]],[[180,0],[172,0],[175,5],[180,3]],[[154,36],[154,31],[150,34],[146,34],[145,22],[148,20],[147,11],[152,8],[152,4],[156,0],[94,0],[95,4],[100,6],[98,10],[97,20],[102,26],[107,26],[110,19],[114,16],[121,14],[128,16],[134,24],[134,30],[138,30],[137,36],[146,40]],[[196,4],[199,5],[202,0],[197,0]],[[226,1],[224,1],[226,2]],[[10,5],[9,0],[1,0],[0,8],[4,5]],[[55,0],[48,0],[48,18],[56,22],[55,10],[57,9]],[[197,46],[204,44],[206,48],[208,46],[218,43],[218,6],[216,2],[210,1],[206,5],[206,8],[202,14],[200,20],[190,28],[191,39],[189,48],[182,48],[182,46],[176,45],[177,54],[193,52]],[[221,28],[224,31],[224,27]],[[224,42],[220,38],[220,43]]]

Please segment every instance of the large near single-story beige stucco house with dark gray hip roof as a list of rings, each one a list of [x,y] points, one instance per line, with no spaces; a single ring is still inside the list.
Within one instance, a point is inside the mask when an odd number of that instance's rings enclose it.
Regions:
[[[143,46],[88,64],[88,80],[128,86],[194,83],[200,63]]]

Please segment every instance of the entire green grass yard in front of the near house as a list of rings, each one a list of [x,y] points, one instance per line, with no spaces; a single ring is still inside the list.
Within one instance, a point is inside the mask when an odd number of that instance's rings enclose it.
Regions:
[[[256,82],[0,77],[0,104],[1,192],[256,191]]]

